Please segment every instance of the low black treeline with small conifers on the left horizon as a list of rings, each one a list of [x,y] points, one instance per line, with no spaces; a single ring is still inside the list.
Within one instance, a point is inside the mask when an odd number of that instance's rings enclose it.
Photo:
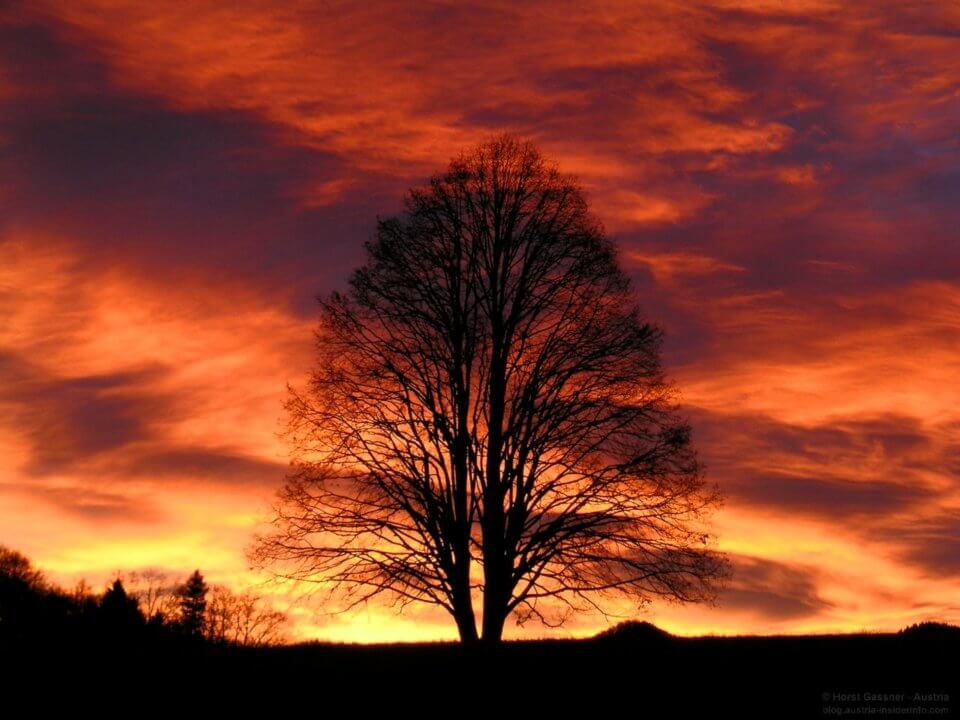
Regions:
[[[197,570],[178,581],[157,571],[118,574],[102,593],[85,582],[66,590],[30,560],[0,546],[0,644],[273,645],[284,613],[252,592],[211,586]]]

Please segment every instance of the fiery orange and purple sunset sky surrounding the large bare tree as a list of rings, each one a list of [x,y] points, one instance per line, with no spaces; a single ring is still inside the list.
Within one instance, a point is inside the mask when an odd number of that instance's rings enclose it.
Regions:
[[[244,550],[316,296],[409,187],[503,131],[579,177],[726,496],[716,605],[625,616],[960,622],[946,0],[0,2],[0,544],[67,585],[260,587]],[[291,616],[297,637],[456,634],[431,607]]]

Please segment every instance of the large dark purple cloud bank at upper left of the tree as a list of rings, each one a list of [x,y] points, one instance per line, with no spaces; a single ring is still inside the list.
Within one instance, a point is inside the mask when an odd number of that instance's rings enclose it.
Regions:
[[[2,67],[31,88],[0,114],[3,222],[70,238],[93,267],[243,278],[299,303],[345,274],[377,209],[397,204],[383,180],[255,114],[187,112],[115,86],[55,24],[3,35]],[[313,199],[345,178],[352,194]]]

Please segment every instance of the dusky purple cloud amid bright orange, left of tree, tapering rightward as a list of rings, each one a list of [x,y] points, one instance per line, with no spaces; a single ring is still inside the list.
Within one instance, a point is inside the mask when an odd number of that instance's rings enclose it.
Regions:
[[[30,443],[27,470],[34,477],[107,472],[120,479],[260,487],[282,480],[286,465],[280,462],[226,448],[169,445],[158,425],[184,417],[188,409],[186,399],[155,389],[168,375],[167,368],[151,365],[55,377],[16,355],[0,353],[0,407],[7,408],[8,426]],[[49,498],[66,496],[49,491]],[[89,501],[84,495],[71,508],[107,513],[115,504],[112,497]]]

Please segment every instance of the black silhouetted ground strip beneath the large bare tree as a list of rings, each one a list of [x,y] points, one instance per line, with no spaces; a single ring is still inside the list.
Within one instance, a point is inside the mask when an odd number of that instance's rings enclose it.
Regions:
[[[140,710],[187,702],[197,714],[203,706],[204,714],[256,708],[271,717],[290,708],[316,717],[960,715],[960,628],[934,624],[888,634],[680,638],[641,623],[589,640],[495,648],[103,645],[7,652],[4,661],[13,668],[8,689],[21,677],[78,702],[133,697]]]

